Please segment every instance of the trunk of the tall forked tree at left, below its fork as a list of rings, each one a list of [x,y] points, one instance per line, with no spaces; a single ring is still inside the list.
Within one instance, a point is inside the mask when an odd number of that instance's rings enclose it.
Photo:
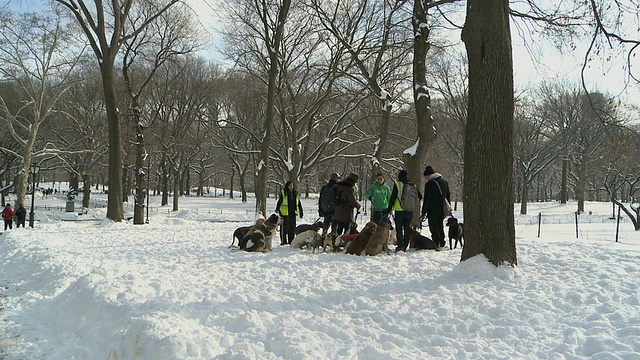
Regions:
[[[107,198],[107,218],[121,221],[122,211],[122,139],[120,117],[115,90],[113,59],[105,58],[100,63],[104,105],[109,122],[109,194]]]

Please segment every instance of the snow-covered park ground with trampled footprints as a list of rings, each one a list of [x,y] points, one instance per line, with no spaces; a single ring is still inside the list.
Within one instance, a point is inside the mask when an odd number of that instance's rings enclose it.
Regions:
[[[615,242],[607,203],[577,230],[575,203],[530,204],[517,268],[460,249],[232,252],[252,201],[183,197],[148,225],[36,204],[35,228],[0,236],[0,359],[640,359],[640,233],[623,219]]]

